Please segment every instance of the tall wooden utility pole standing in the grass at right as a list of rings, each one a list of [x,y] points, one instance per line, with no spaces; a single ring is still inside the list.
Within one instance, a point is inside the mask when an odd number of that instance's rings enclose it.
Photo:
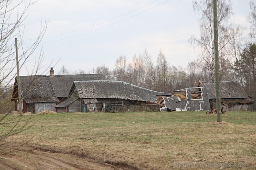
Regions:
[[[217,0],[213,0],[213,27],[214,27],[214,60],[215,60],[217,122],[222,122],[221,120],[221,88],[219,84],[219,43],[218,43]]]

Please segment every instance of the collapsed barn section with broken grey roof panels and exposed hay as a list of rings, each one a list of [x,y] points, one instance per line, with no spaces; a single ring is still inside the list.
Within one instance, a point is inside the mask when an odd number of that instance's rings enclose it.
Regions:
[[[174,91],[171,97],[158,96],[161,111],[210,110],[206,87],[185,88]]]

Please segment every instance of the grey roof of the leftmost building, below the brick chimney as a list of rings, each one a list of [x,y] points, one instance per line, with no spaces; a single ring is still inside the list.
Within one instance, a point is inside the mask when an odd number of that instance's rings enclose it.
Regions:
[[[34,101],[36,101],[38,98],[45,98],[49,101],[49,98],[52,98],[55,102],[55,97],[63,98],[68,96],[68,92],[74,81],[102,79],[103,75],[100,74],[20,76],[21,93],[24,99],[35,99]],[[13,96],[18,92],[16,84],[17,77],[15,78]]]

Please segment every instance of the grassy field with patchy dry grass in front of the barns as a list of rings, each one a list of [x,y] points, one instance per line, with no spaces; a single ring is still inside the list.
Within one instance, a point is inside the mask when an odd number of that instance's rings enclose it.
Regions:
[[[256,112],[227,112],[222,123],[216,122],[217,115],[192,111],[39,117],[8,140],[32,138],[27,145],[34,149],[127,169],[256,169]],[[10,127],[0,127],[1,134]]]

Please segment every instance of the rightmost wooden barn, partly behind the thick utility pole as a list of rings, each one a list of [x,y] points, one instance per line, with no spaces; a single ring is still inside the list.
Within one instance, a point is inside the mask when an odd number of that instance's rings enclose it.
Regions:
[[[197,87],[207,87],[211,108],[216,108],[215,82],[197,83]],[[221,105],[224,111],[253,111],[254,101],[250,100],[238,81],[220,82]]]

